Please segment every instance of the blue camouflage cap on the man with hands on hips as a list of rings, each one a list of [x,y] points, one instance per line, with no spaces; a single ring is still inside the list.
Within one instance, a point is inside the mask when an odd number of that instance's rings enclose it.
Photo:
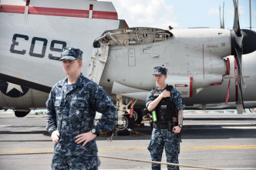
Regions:
[[[62,49],[62,57],[59,59],[59,61],[62,61],[63,59],[67,59],[67,60],[82,59],[82,55],[83,55],[83,52],[79,50],[79,48],[64,47]]]

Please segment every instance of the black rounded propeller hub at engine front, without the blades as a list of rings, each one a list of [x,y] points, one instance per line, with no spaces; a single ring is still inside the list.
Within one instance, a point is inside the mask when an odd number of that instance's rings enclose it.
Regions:
[[[243,29],[241,30],[243,39],[242,39],[242,50],[243,54],[249,54],[251,52],[256,51],[256,32],[249,30],[249,29]],[[235,33],[234,30],[231,30],[231,55],[236,55],[235,47],[237,43],[235,42]]]

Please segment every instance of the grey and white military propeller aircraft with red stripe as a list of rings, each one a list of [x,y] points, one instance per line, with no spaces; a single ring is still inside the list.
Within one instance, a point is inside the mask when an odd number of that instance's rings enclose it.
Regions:
[[[134,127],[133,117],[142,120],[156,65],[168,68],[167,84],[186,108],[256,107],[256,33],[240,29],[237,1],[234,11],[234,30],[163,30],[129,28],[111,2],[2,0],[0,108],[17,116],[45,108],[50,89],[65,77],[58,61],[65,46],[84,52],[83,74],[116,99],[123,134]]]

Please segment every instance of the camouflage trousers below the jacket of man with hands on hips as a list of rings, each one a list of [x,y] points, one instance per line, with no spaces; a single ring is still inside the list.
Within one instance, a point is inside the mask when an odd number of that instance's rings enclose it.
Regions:
[[[53,155],[52,170],[97,170],[98,157],[95,156],[61,156]]]

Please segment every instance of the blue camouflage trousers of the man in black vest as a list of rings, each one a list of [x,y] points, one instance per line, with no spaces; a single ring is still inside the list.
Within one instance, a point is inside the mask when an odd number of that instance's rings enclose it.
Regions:
[[[167,155],[167,162],[179,163],[178,155],[180,153],[180,142],[177,135],[168,129],[153,128],[150,145],[148,150],[150,151],[151,160],[161,162],[163,155],[163,147]],[[152,169],[161,169],[160,164],[152,164]],[[179,166],[167,165],[167,169],[180,169]]]

